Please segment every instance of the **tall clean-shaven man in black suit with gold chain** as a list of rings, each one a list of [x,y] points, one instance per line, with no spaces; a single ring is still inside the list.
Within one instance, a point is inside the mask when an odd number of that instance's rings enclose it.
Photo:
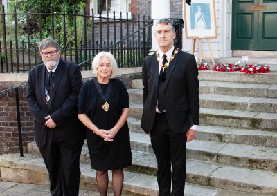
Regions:
[[[159,51],[143,61],[141,128],[156,155],[159,195],[184,195],[186,142],[199,124],[198,71],[193,55],[174,48],[175,29],[168,19],[158,21],[155,37]]]

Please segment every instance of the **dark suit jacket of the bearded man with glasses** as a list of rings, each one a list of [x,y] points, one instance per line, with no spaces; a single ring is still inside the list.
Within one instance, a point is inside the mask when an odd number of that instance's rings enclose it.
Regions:
[[[82,75],[79,67],[69,61],[60,59],[55,70],[55,83],[53,88],[53,111],[48,113],[45,99],[46,67],[40,64],[29,72],[26,99],[28,108],[35,118],[35,141],[39,148],[46,143],[47,132],[55,131],[55,137],[62,138],[68,144],[83,141],[85,137],[84,126],[78,120],[77,99],[82,87]],[[57,125],[47,128],[45,117],[50,115]]]

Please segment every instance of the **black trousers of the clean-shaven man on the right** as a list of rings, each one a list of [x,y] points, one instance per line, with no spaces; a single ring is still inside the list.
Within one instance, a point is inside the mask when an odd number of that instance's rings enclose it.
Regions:
[[[186,179],[186,133],[172,132],[166,121],[166,112],[156,113],[151,144],[158,164],[159,195],[183,196]]]

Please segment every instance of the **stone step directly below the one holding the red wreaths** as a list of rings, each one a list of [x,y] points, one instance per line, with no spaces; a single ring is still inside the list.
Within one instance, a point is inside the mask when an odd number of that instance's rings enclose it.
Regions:
[[[133,79],[132,88],[142,90],[142,80]],[[130,92],[139,93],[139,91],[136,90],[130,89]],[[199,93],[277,98],[277,84],[250,84],[231,81],[199,81]]]

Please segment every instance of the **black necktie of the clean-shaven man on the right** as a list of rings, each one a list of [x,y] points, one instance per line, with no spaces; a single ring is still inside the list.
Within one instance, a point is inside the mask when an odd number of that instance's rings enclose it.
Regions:
[[[163,66],[168,63],[168,59],[166,59],[166,54],[163,55]],[[166,71],[168,67],[161,68],[160,75],[159,75],[159,95],[158,95],[158,110],[163,112],[165,110],[164,106],[164,83],[166,81]]]

